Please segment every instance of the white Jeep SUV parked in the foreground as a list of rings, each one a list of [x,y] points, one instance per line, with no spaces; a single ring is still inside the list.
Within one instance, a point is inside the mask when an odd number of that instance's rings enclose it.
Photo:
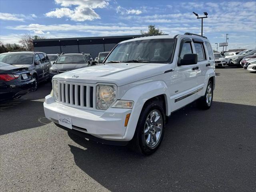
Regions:
[[[84,138],[131,142],[137,152],[149,155],[160,146],[172,112],[195,100],[200,108],[210,108],[214,69],[212,47],[203,36],[126,40],[102,65],[54,76],[45,116]]]

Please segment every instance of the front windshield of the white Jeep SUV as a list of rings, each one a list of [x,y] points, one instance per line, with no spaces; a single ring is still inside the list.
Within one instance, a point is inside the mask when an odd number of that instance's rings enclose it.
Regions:
[[[172,60],[174,39],[135,40],[118,44],[108,56],[110,61],[136,61],[150,63],[169,63]]]

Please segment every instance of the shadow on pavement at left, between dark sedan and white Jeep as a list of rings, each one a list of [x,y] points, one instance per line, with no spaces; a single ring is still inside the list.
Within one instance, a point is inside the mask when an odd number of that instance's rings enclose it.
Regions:
[[[44,116],[44,100],[40,100],[50,94],[50,90],[50,83],[40,84],[35,92],[0,103],[0,135],[50,123]]]

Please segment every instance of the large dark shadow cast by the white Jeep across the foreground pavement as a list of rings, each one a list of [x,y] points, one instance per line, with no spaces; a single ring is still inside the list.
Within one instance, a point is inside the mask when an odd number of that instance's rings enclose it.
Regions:
[[[110,191],[255,191],[255,106],[190,104],[169,118],[152,156],[87,141],[70,146],[76,165]]]

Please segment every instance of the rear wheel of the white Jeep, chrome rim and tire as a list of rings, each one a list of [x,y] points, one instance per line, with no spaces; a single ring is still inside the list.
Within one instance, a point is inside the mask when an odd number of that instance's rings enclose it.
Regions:
[[[211,80],[209,80],[204,96],[199,98],[196,104],[201,109],[209,109],[212,106],[212,98],[213,98],[213,83]]]

